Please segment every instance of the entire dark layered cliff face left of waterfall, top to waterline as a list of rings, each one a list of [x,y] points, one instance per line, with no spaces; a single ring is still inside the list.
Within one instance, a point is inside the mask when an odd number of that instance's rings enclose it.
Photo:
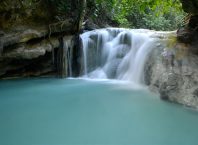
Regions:
[[[77,11],[58,12],[52,0],[2,0],[0,78],[58,72],[60,49],[74,47],[77,17]],[[62,44],[62,38],[68,44]]]

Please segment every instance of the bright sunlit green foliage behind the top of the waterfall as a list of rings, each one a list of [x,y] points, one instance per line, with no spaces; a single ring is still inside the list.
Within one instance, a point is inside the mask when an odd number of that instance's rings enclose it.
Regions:
[[[179,0],[96,0],[94,16],[103,12],[121,27],[174,30],[185,16]]]

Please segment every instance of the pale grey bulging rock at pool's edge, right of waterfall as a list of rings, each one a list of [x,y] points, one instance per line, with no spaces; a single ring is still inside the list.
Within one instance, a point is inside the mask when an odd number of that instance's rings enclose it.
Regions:
[[[155,49],[145,68],[145,81],[161,99],[198,108],[198,56],[189,54],[182,66],[164,64],[162,48]]]

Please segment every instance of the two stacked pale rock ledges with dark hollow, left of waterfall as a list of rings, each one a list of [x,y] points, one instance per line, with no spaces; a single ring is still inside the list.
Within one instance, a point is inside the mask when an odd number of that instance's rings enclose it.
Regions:
[[[55,74],[59,38],[73,41],[73,35],[58,30],[49,36],[48,28],[25,28],[0,36],[0,78]],[[73,45],[73,44],[69,44]]]

